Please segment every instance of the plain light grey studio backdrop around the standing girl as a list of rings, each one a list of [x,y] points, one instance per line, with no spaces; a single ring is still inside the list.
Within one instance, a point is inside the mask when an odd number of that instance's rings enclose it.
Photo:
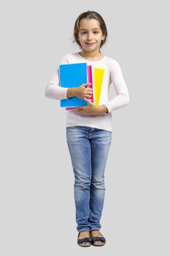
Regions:
[[[112,3],[112,4],[111,4]],[[77,246],[66,113],[45,87],[80,13],[99,12],[130,105],[112,112],[103,247]],[[1,2],[1,256],[169,256],[168,1]],[[114,86],[110,98],[115,97]]]

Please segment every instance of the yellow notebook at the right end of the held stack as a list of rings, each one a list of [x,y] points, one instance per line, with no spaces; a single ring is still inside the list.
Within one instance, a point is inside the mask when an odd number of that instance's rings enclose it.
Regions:
[[[97,67],[93,68],[93,89],[94,89],[94,102],[98,106],[101,96],[101,88],[104,80],[104,69]]]

